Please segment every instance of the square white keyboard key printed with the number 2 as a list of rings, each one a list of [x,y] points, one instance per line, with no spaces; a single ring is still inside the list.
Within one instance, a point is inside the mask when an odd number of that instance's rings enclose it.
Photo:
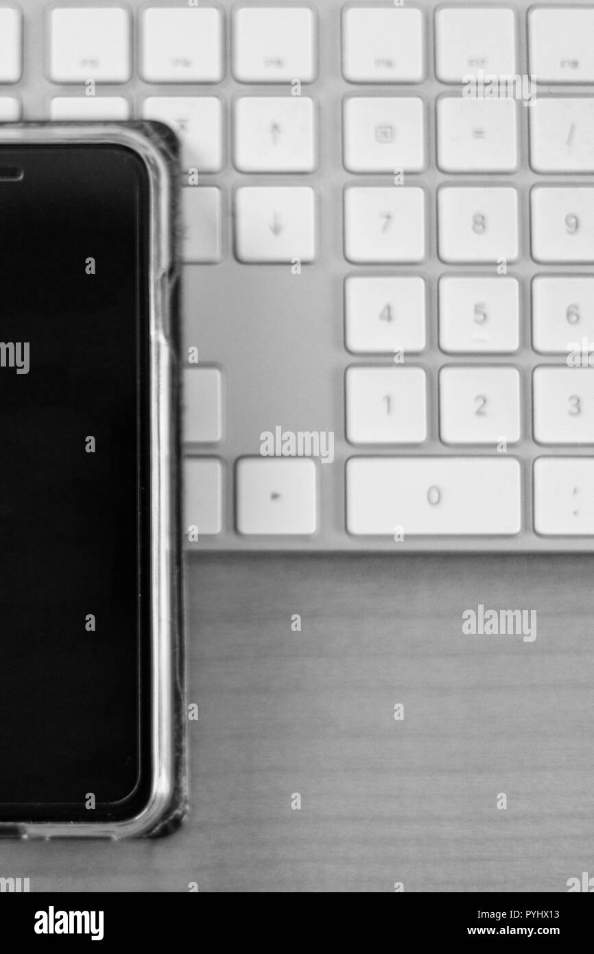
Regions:
[[[514,367],[444,367],[440,434],[445,444],[520,440],[520,374]]]

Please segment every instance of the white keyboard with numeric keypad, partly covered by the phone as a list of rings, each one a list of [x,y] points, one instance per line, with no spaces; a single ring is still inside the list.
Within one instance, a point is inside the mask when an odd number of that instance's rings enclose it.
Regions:
[[[594,3],[0,2],[182,141],[193,550],[592,550]]]

